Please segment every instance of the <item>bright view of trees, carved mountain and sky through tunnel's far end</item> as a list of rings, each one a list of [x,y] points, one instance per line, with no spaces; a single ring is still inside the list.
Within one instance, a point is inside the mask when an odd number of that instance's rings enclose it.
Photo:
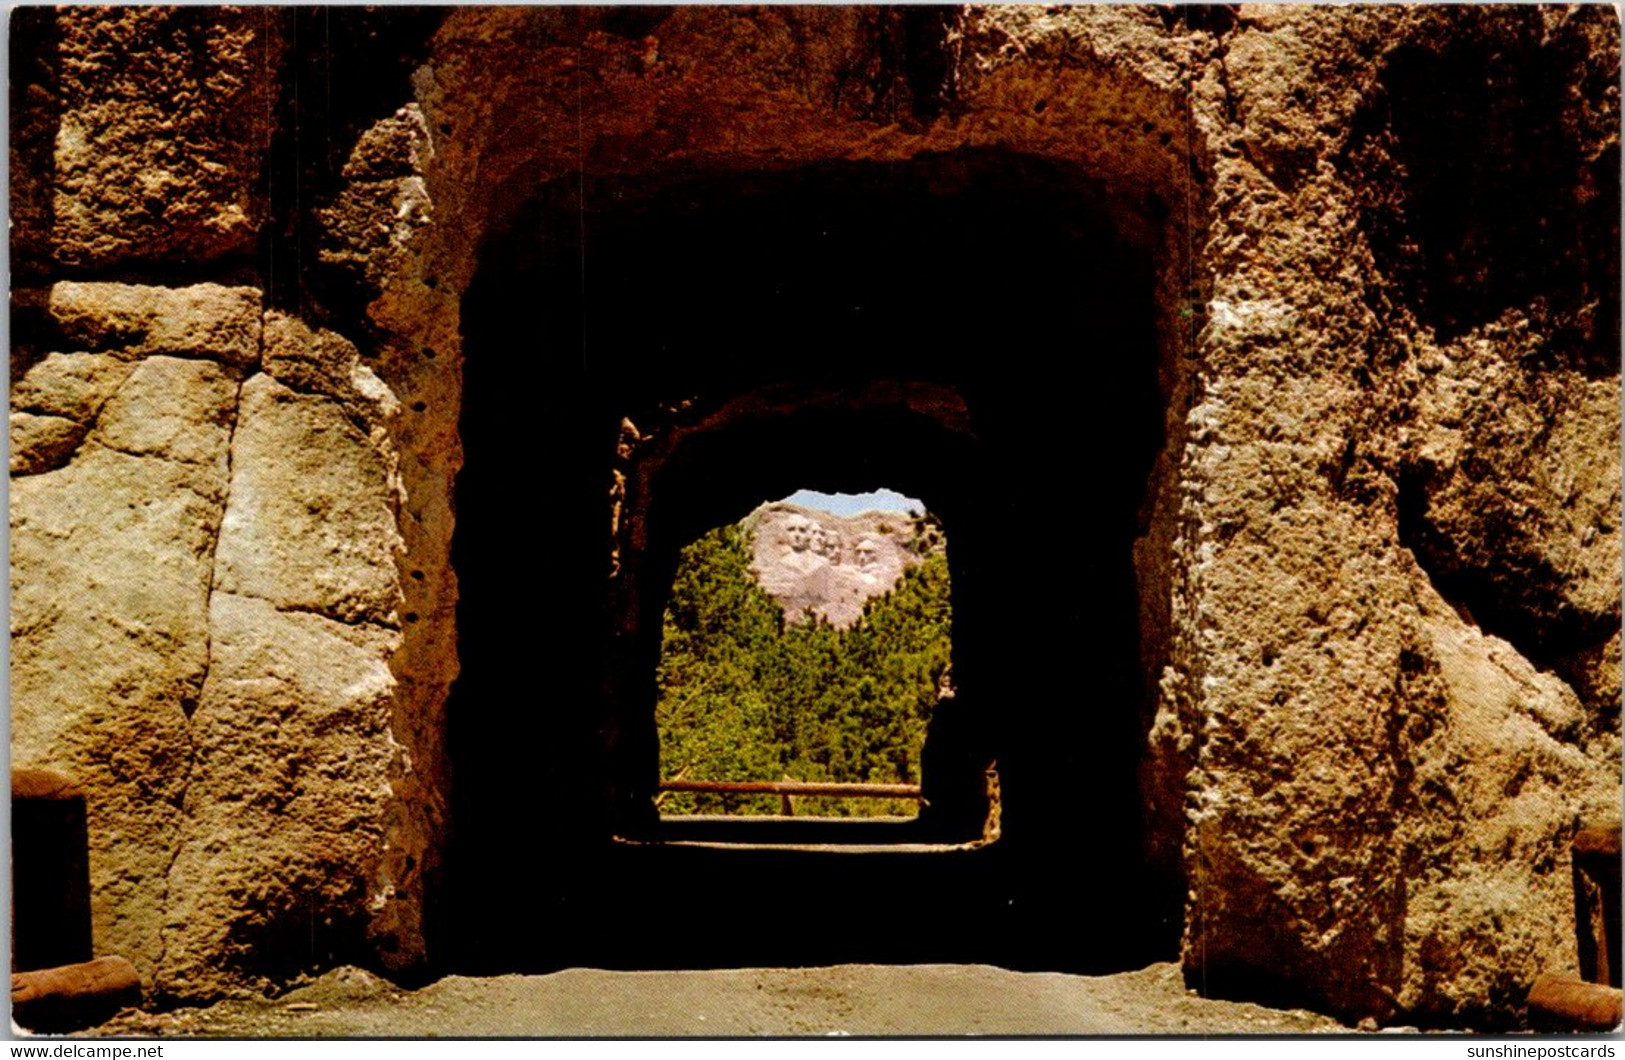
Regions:
[[[798,491],[686,546],[661,629],[663,818],[913,819],[952,696],[941,520]]]

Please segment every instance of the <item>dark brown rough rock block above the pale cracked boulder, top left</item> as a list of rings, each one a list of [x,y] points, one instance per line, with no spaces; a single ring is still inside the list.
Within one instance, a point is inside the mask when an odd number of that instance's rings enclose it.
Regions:
[[[57,262],[192,263],[252,250],[268,210],[275,10],[78,8],[55,26]]]

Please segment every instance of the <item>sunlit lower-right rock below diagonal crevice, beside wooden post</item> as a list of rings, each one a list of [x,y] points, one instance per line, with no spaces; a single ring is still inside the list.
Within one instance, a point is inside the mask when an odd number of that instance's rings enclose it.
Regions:
[[[1513,1008],[1542,971],[1575,974],[1568,839],[1618,813],[1617,736],[1513,645],[1419,585],[1436,694],[1419,697],[1404,832],[1407,1011]]]

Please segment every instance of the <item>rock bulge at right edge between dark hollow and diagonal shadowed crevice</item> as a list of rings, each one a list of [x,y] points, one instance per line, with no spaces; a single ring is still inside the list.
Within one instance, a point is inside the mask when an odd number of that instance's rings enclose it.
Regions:
[[[1618,384],[1528,367],[1526,320],[1417,371],[1407,541],[1476,623],[1618,730]]]

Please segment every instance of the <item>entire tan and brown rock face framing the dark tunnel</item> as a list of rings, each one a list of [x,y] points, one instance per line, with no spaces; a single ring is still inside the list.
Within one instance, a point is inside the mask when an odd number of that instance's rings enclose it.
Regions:
[[[91,793],[101,948],[187,998],[432,956],[462,296],[540,189],[983,151],[1155,262],[1138,795],[1188,982],[1505,1026],[1571,967],[1620,802],[1614,10],[458,8],[289,205],[266,11],[24,26],[16,239],[63,272],[13,366],[13,761]],[[273,206],[332,304],[265,309]]]

